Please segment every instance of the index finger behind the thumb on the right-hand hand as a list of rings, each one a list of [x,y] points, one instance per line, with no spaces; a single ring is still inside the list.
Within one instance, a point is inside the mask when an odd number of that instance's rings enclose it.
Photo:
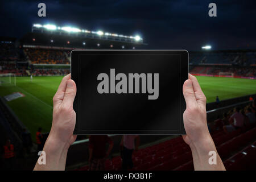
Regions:
[[[189,74],[188,77],[193,83],[193,89],[195,92],[195,97],[196,97],[197,102],[199,103],[200,106],[205,107],[206,97],[204,95],[204,92],[201,89],[201,86],[199,85],[199,82],[197,81],[196,77],[191,74]]]

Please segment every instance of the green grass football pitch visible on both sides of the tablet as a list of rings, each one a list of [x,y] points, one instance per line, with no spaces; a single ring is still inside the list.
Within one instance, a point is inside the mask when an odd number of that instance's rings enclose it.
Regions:
[[[61,78],[60,76],[33,77],[31,81],[30,77],[17,77],[16,86],[10,84],[0,86],[0,96],[13,92],[21,92],[25,95],[7,104],[28,127],[34,140],[38,127],[42,127],[43,132],[51,129],[52,97]],[[207,102],[214,102],[216,96],[220,100],[225,100],[256,93],[256,80],[204,76],[197,76],[197,79],[207,96]]]

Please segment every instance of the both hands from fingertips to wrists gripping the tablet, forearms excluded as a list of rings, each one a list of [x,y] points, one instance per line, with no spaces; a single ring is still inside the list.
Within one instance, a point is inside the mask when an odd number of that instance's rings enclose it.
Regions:
[[[210,135],[205,109],[206,97],[195,76],[189,74],[189,79],[183,85],[183,95],[187,105],[183,114],[187,135],[183,135],[183,139],[191,146]],[[69,74],[63,78],[53,97],[53,120],[49,134],[52,140],[63,143],[67,148],[76,140],[76,135],[73,135],[76,123],[76,113],[73,110],[75,96],[76,84]]]

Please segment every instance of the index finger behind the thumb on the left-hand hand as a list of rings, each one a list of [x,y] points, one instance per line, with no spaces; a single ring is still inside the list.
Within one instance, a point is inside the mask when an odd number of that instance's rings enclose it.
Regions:
[[[67,87],[67,81],[71,78],[71,74],[69,73],[67,76],[64,76],[60,82],[59,88],[53,97],[53,106],[60,104],[63,101],[65,90]]]

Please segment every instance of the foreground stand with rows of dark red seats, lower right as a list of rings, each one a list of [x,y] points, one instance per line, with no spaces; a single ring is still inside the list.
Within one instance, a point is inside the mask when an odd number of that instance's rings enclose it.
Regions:
[[[255,105],[249,104],[242,111],[247,113],[248,108],[255,114]],[[227,118],[221,119],[222,126],[229,125],[225,119],[230,118],[233,110],[228,112]],[[224,114],[225,115],[225,114]],[[244,115],[245,121],[247,116]],[[255,169],[256,160],[256,121],[245,123],[241,129],[228,132],[219,128],[217,122],[213,122],[212,138],[216,144],[218,154],[224,161],[228,170]],[[141,148],[133,153],[134,168],[131,170],[140,171],[166,171],[166,170],[193,170],[192,154],[189,146],[182,137],[167,140]],[[117,171],[121,169],[121,156],[115,156],[105,162],[106,171]],[[88,170],[88,166],[77,170]]]

